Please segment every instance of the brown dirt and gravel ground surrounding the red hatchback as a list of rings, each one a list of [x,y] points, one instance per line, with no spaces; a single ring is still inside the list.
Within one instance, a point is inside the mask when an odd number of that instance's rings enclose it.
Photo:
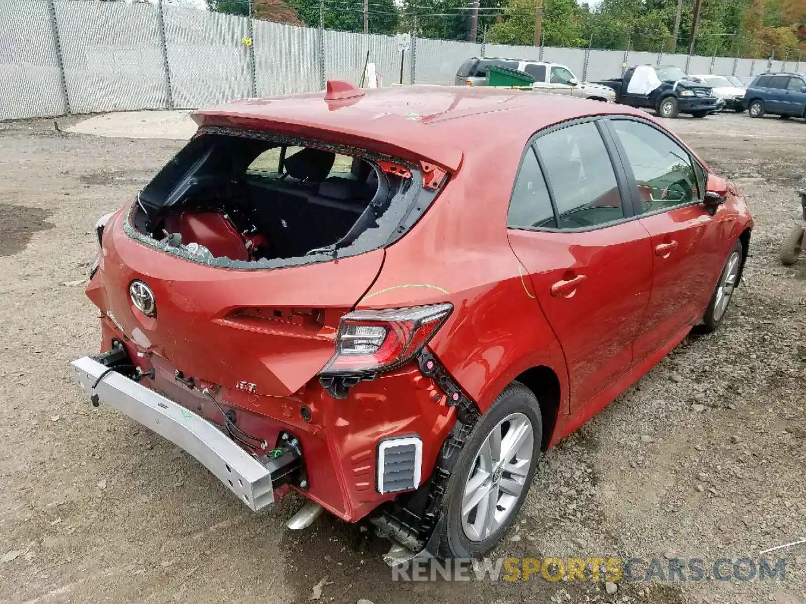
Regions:
[[[670,125],[750,203],[745,281],[717,333],[543,457],[494,556],[758,559],[806,540],[806,258],[777,259],[806,125]],[[253,514],[180,449],[90,407],[68,366],[98,349],[94,221],[179,147],[0,124],[0,601],[307,602],[320,584],[320,602],[806,602],[806,544],[770,554],[783,581],[395,583],[370,532],[328,515],[290,532],[300,499]]]

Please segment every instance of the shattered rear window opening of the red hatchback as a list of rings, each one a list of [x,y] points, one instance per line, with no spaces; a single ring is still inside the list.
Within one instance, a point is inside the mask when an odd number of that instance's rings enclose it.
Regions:
[[[294,266],[388,246],[437,192],[401,159],[210,127],[139,193],[127,232],[211,266]]]

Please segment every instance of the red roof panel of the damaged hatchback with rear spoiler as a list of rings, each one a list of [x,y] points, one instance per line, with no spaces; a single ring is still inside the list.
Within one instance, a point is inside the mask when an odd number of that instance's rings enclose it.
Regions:
[[[346,83],[342,83],[345,84]],[[559,94],[471,86],[401,85],[353,89],[326,101],[322,91],[247,98],[194,111],[199,126],[268,130],[367,148],[459,168],[463,155],[513,143],[526,147],[537,130],[599,114],[633,114],[626,105]]]

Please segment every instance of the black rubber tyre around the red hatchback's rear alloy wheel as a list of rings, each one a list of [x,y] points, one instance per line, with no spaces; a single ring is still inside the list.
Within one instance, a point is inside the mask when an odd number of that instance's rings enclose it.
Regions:
[[[526,475],[526,482],[524,482],[521,494],[514,504],[509,517],[501,523],[501,526],[492,532],[487,539],[481,541],[469,540],[462,527],[462,499],[472,466],[476,462],[476,455],[493,428],[496,428],[507,416],[516,412],[522,413],[530,420],[534,432],[532,462]],[[459,459],[456,461],[451,478],[448,480],[445,494],[442,496],[442,522],[439,523],[436,529],[441,532],[438,535],[437,556],[439,558],[476,558],[484,556],[485,553],[489,552],[501,541],[507,529],[517,518],[534,479],[534,472],[537,469],[542,445],[542,433],[542,416],[538,399],[534,396],[534,393],[521,383],[513,382],[509,384],[498,395],[498,398],[492,403],[484,416],[481,417],[476,427],[473,428],[462,449],[462,453],[459,455]]]

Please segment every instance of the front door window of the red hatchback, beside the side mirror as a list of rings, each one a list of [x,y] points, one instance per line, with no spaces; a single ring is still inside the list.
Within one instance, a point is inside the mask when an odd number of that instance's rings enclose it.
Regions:
[[[698,178],[688,151],[660,130],[642,122],[613,120],[627,162],[633,169],[641,213],[700,201],[704,176]],[[701,170],[700,170],[701,172]]]

